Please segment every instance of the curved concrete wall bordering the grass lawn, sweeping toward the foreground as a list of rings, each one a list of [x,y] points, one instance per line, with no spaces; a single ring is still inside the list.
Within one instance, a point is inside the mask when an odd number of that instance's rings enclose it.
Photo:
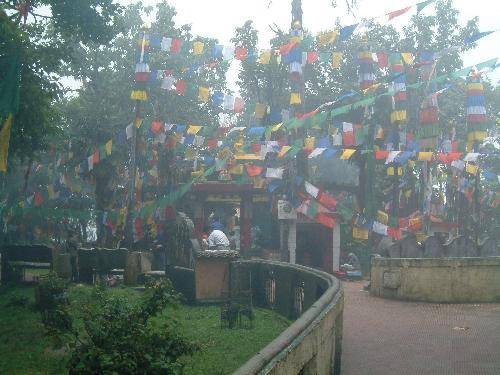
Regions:
[[[231,263],[231,292],[251,288],[254,304],[297,318],[236,374],[340,374],[344,294],[332,275],[270,261]]]

